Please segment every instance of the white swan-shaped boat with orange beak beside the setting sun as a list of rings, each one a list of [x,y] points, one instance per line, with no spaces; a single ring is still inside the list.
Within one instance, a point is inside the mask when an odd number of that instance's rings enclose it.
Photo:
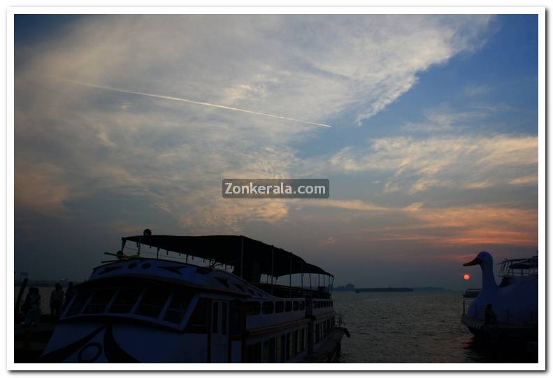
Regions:
[[[501,284],[494,278],[494,259],[480,252],[464,266],[480,265],[482,290],[472,300],[462,322],[478,334],[485,326],[536,328],[538,322],[538,256],[501,263]],[[518,326],[518,327],[513,327]]]

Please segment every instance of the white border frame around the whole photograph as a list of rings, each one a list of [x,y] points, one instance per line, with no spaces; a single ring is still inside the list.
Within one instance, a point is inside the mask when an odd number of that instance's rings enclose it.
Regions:
[[[145,363],[145,364],[49,364],[14,363],[14,67],[13,20],[15,14],[536,14],[538,15],[538,254],[539,295],[538,363],[342,363],[342,364],[221,364],[221,363]],[[7,353],[8,370],[545,370],[545,7],[13,7],[7,10]]]

